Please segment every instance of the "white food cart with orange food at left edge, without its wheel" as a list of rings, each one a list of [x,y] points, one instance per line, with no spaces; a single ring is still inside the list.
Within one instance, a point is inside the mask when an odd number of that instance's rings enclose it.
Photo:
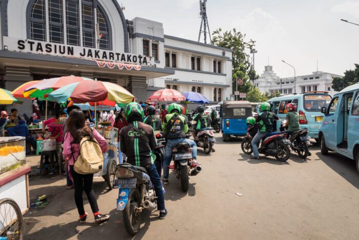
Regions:
[[[0,138],[0,199],[12,198],[22,214],[30,207],[30,164],[25,164],[25,137]]]

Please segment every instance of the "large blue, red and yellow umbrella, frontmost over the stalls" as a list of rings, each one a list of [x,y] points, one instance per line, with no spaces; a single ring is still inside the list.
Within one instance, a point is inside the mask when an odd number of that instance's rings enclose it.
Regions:
[[[132,102],[134,96],[122,86],[110,82],[85,80],[61,87],[47,96],[50,101],[74,103],[89,102],[97,105],[112,105]],[[102,101],[105,101],[102,102]],[[101,103],[102,102],[102,103]]]

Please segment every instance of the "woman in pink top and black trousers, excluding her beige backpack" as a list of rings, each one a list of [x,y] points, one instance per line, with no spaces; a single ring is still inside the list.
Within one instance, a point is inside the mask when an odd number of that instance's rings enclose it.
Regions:
[[[88,213],[84,210],[82,192],[85,190],[93,212],[95,222],[102,222],[109,219],[109,215],[101,214],[98,210],[97,200],[92,188],[93,174],[79,174],[74,170],[74,164],[80,152],[80,145],[83,137],[95,139],[103,153],[106,152],[107,142],[96,130],[88,127],[85,123],[85,115],[79,109],[73,109],[66,122],[66,134],[64,140],[63,155],[69,161],[70,171],[75,187],[75,203],[79,214],[80,223],[85,223]]]

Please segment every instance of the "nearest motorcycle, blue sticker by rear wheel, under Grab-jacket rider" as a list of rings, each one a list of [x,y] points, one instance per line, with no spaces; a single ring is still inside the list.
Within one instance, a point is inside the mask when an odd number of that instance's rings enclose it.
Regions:
[[[157,197],[150,176],[144,167],[118,164],[112,188],[118,188],[117,210],[123,211],[126,232],[135,235],[144,210],[157,207]]]

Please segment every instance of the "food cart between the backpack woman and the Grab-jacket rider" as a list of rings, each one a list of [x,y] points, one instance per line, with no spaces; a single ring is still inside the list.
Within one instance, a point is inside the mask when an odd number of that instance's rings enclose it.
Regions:
[[[104,165],[101,172],[95,173],[95,177],[102,176],[109,189],[112,189],[112,180],[115,177],[115,171],[118,158],[118,130],[115,127],[103,126],[101,130],[97,130],[107,141],[107,151],[104,153]]]

